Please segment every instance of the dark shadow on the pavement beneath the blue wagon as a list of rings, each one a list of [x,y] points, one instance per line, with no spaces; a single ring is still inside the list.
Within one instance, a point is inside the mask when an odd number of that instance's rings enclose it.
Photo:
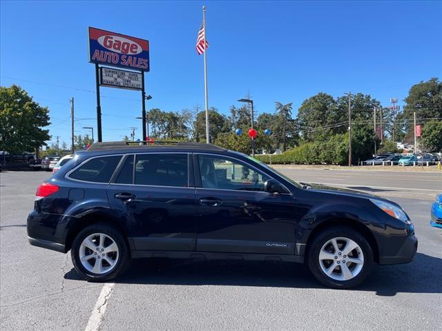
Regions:
[[[397,293],[442,293],[442,259],[417,253],[412,263],[375,265],[363,285],[351,290],[390,297]],[[72,269],[64,278],[81,280]],[[115,280],[125,284],[233,285],[275,288],[325,288],[307,265],[275,261],[135,259]]]

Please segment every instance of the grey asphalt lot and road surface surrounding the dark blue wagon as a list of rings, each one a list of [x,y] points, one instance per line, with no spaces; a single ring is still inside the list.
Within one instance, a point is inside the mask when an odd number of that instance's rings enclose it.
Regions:
[[[419,238],[414,261],[375,266],[353,290],[270,261],[142,259],[115,284],[87,283],[70,254],[28,244],[26,217],[49,173],[1,172],[0,330],[441,330],[442,231],[429,219],[442,172],[278,170],[400,203]]]

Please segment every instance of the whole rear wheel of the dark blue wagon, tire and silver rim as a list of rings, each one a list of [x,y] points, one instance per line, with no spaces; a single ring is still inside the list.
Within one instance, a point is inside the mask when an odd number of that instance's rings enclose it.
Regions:
[[[88,281],[108,281],[121,274],[129,254],[122,235],[108,225],[90,225],[75,237],[70,252],[75,270]]]

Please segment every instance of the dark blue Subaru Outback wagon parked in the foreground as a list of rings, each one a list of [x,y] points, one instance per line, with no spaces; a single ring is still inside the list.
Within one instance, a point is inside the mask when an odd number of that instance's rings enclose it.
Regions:
[[[352,288],[418,245],[397,203],[298,183],[205,143],[95,143],[39,186],[27,226],[32,245],[70,250],[88,281],[131,258],[203,257],[306,263],[321,283]]]

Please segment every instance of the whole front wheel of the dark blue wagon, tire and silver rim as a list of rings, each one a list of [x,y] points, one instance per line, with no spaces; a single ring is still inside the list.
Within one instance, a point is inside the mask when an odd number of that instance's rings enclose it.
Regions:
[[[347,227],[324,230],[309,248],[311,273],[331,288],[361,284],[373,265],[373,252],[362,234]]]

